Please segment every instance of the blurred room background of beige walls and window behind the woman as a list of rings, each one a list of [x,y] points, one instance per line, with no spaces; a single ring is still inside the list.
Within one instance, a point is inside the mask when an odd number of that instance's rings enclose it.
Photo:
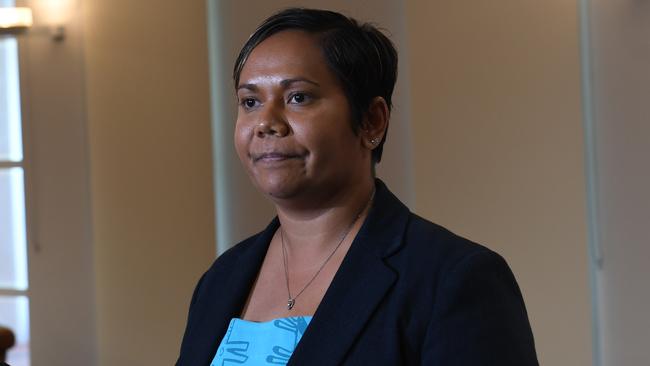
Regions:
[[[199,276],[273,216],[231,144],[231,70],[296,5],[395,42],[378,175],[507,259],[540,363],[650,365],[645,0],[0,0],[33,14],[0,35],[8,362],[175,362]]]

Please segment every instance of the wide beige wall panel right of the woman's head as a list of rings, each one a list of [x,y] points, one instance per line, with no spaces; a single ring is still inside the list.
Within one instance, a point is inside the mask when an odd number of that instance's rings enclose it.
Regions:
[[[406,4],[416,211],[506,257],[542,365],[591,364],[576,3]]]

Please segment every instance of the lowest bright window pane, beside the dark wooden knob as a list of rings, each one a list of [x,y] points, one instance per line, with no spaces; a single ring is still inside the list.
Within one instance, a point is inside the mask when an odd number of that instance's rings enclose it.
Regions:
[[[29,366],[29,300],[26,296],[0,296],[0,325],[16,335],[16,344],[9,349],[7,363]]]

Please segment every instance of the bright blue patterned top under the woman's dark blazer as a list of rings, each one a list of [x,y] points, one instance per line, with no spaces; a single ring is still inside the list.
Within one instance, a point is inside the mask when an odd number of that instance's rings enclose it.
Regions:
[[[232,318],[210,366],[286,365],[311,316],[251,322]]]

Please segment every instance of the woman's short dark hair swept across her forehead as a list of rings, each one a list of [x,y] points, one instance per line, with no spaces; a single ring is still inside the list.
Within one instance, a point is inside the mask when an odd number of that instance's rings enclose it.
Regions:
[[[352,112],[352,129],[362,128],[364,113],[373,98],[384,98],[389,111],[397,80],[397,51],[393,43],[369,23],[360,24],[343,14],[318,9],[289,8],[269,18],[255,30],[235,62],[235,87],[244,64],[253,49],[275,33],[301,30],[318,37],[325,61],[334,72],[347,96]],[[372,151],[372,160],[378,163],[386,141]]]

